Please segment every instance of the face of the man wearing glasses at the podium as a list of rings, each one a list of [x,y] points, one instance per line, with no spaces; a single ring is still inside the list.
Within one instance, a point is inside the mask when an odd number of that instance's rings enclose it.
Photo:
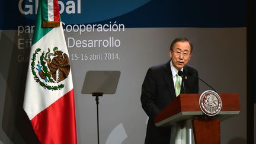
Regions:
[[[172,65],[180,71],[185,65],[187,65],[188,61],[191,57],[191,47],[190,44],[185,41],[178,41],[174,44],[173,50],[169,50],[169,56],[172,59]]]

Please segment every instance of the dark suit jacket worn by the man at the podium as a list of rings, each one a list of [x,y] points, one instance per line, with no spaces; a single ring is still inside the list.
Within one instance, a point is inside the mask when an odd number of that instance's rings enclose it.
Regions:
[[[187,79],[183,79],[181,93],[199,93],[199,79],[187,74],[194,73],[198,76],[197,70],[191,66],[185,66],[183,73],[184,76],[187,76]],[[169,144],[171,127],[156,127],[154,118],[175,97],[170,61],[149,68],[142,85],[140,97],[142,108],[149,116],[145,144]]]

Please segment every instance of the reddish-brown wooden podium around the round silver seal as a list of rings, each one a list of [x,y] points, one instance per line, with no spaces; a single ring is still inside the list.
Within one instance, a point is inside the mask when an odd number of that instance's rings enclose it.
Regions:
[[[239,114],[238,94],[219,94],[222,108],[219,114],[207,116],[199,105],[200,94],[180,94],[155,117],[156,126],[174,126],[191,120],[196,144],[220,144],[220,121]]]

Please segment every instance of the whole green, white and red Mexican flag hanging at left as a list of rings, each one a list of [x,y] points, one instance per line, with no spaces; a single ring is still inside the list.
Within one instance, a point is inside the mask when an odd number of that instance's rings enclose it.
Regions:
[[[39,1],[23,108],[40,143],[77,143],[71,66],[57,0]]]

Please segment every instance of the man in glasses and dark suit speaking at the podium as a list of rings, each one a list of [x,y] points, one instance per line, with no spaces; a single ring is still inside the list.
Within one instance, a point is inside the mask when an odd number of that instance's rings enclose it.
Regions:
[[[169,144],[171,127],[156,127],[156,114],[180,93],[199,93],[199,79],[191,75],[198,76],[198,72],[187,65],[192,51],[193,45],[188,39],[177,38],[169,48],[171,60],[148,69],[140,97],[142,108],[149,116],[145,144]]]

